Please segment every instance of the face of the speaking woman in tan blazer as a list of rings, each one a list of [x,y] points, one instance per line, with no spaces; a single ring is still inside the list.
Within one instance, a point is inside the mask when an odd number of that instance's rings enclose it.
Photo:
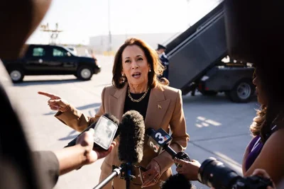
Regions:
[[[148,85],[150,65],[143,50],[137,45],[129,45],[122,52],[122,73],[130,85]]]

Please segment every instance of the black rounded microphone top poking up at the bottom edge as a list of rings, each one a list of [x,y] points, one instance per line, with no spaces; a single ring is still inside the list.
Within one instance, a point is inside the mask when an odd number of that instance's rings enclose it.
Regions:
[[[160,188],[161,189],[172,189],[176,188],[178,185],[178,188],[185,188],[190,189],[192,187],[192,183],[190,181],[187,181],[185,176],[183,176],[180,173],[176,173],[173,176],[170,176],[166,181],[161,183]]]

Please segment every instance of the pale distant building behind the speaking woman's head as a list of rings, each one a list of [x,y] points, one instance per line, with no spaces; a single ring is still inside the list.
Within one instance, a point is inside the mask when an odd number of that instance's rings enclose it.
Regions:
[[[153,49],[157,48],[158,43],[165,44],[168,40],[173,39],[177,33],[143,33],[143,34],[124,34],[111,35],[111,51],[116,52],[127,38],[139,38],[151,45]],[[109,35],[99,35],[89,38],[89,47],[98,54],[109,51]]]

